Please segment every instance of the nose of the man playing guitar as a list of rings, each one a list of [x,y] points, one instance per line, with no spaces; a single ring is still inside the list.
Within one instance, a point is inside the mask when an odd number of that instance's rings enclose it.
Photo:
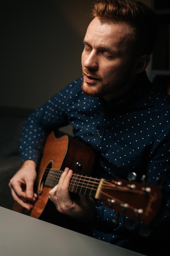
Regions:
[[[97,53],[95,51],[92,50],[88,55],[82,54],[82,58],[84,59],[84,67],[88,70],[98,69]]]

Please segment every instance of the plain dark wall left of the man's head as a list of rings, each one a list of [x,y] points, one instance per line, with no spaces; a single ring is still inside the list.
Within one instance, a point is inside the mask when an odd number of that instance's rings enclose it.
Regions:
[[[1,2],[1,106],[34,109],[82,75],[82,39],[92,2]]]

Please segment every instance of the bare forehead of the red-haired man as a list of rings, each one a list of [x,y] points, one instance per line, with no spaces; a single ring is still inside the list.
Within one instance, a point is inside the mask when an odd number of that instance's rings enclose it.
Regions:
[[[101,22],[94,18],[89,24],[84,40],[89,44],[110,47],[126,47],[130,26],[125,22]]]

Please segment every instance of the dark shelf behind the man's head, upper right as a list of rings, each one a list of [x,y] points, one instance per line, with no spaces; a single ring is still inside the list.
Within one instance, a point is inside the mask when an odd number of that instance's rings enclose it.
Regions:
[[[152,0],[151,7],[157,15],[159,32],[148,67],[148,77],[158,86],[170,88],[170,1]]]

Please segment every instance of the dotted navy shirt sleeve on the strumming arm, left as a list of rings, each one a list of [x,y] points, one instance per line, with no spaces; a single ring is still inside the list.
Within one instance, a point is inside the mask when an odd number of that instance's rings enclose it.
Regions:
[[[66,113],[68,105],[71,104],[69,94],[72,94],[74,84],[66,86],[46,101],[25,121],[19,148],[22,162],[31,159],[38,164],[48,133],[68,125]]]

